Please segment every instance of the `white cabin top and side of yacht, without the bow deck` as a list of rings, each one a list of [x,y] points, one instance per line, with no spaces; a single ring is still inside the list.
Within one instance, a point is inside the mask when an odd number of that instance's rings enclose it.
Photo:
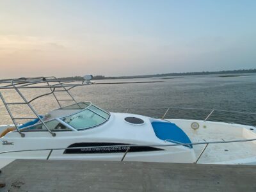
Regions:
[[[12,150],[38,150],[51,148],[67,148],[74,143],[125,143],[132,145],[165,145],[166,142],[159,140],[154,133],[150,119],[147,116],[133,115],[142,118],[145,121],[143,125],[131,125],[124,122],[125,116],[131,114],[111,113],[108,122],[93,129],[84,131],[68,131],[57,132],[52,137],[49,132],[26,132],[24,138],[20,137],[18,132],[9,132],[0,142],[7,141],[13,145],[1,145],[1,152]],[[1,127],[0,127],[1,128]],[[2,127],[3,131],[6,127]],[[168,142],[169,143],[169,142]],[[106,144],[108,145],[108,144]],[[118,145],[118,144],[116,144]],[[154,148],[154,147],[152,147]],[[165,163],[193,163],[196,160],[193,148],[184,146],[175,147],[157,147],[160,150],[128,152],[124,161],[148,161],[148,162],[165,162]],[[108,148],[104,149],[108,150]],[[97,160],[97,161],[121,161],[125,154],[125,148],[121,148],[122,152],[115,153],[93,153],[93,154],[65,154],[65,149],[61,150],[38,150],[24,152],[8,152],[0,154],[1,164],[15,159],[49,159],[58,160]],[[143,150],[143,149],[141,149]]]

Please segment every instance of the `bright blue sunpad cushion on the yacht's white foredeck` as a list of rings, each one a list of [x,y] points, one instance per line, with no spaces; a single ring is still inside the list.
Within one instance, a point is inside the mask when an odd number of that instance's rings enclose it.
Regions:
[[[152,127],[160,140],[172,140],[173,143],[191,143],[187,134],[177,125],[168,122],[152,122]],[[184,145],[193,148],[193,145]]]

